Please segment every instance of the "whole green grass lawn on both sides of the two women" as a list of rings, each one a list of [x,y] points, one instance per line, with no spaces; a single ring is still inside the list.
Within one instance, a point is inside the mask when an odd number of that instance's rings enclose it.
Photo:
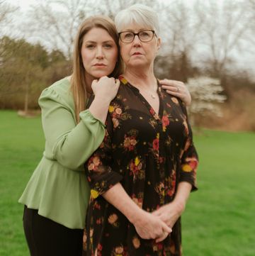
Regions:
[[[255,134],[205,130],[194,139],[199,190],[183,214],[183,255],[254,256]],[[1,256],[29,255],[17,201],[43,147],[40,117],[0,111]]]

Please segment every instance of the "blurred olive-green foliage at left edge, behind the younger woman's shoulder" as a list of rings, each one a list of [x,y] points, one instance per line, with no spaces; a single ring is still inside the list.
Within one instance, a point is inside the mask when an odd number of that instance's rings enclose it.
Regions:
[[[42,89],[70,74],[62,52],[48,53],[39,43],[5,36],[0,56],[0,108],[36,108]]]

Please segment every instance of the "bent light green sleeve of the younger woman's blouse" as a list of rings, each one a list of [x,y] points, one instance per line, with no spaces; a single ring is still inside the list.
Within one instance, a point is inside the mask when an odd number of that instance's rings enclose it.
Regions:
[[[105,126],[89,110],[81,111],[81,121],[77,124],[74,106],[70,104],[72,95],[67,95],[70,91],[62,94],[48,87],[39,99],[45,134],[44,154],[64,167],[77,170],[101,144]]]

